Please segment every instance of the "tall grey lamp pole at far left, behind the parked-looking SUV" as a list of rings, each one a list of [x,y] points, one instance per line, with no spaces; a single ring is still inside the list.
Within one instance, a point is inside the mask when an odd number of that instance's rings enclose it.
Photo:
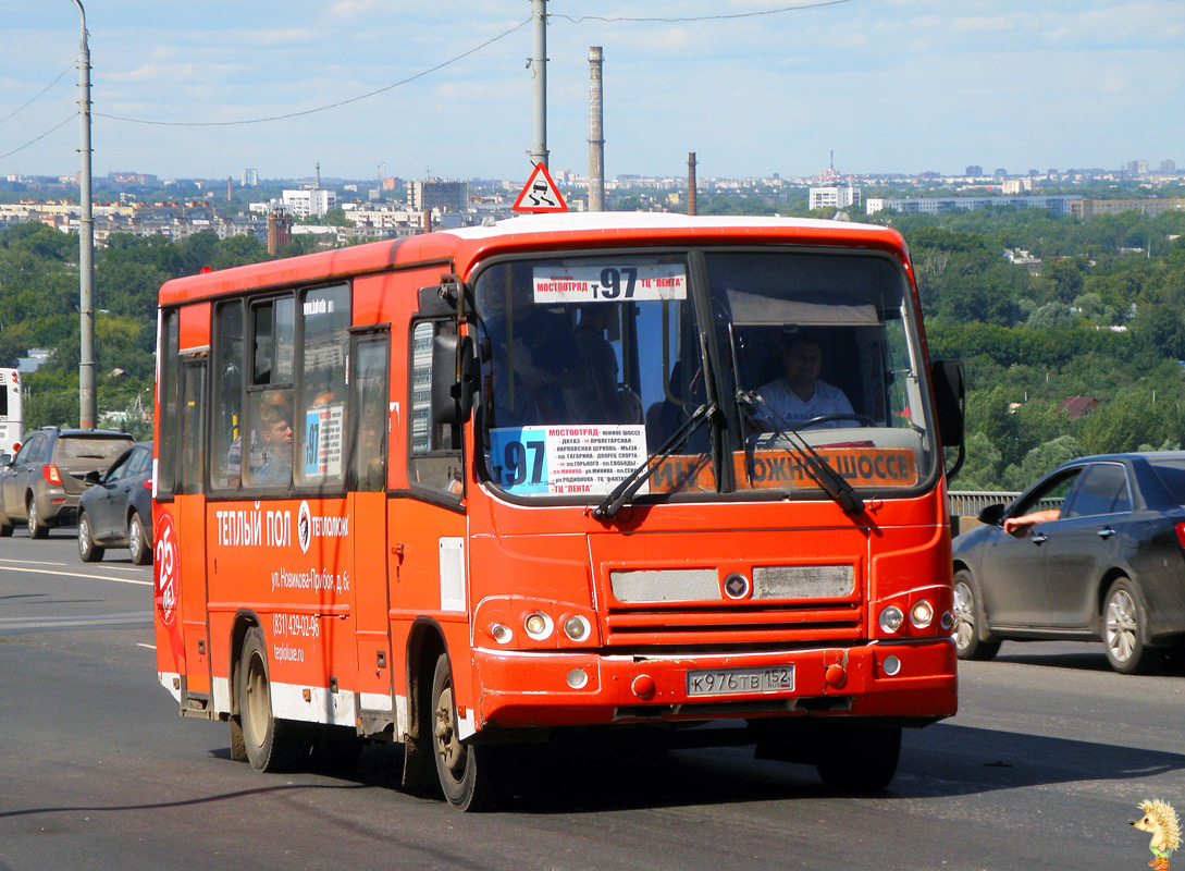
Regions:
[[[87,12],[81,0],[73,0],[82,18],[82,41],[78,46],[78,117],[82,139],[78,153],[78,425],[95,429],[95,216],[90,201],[90,47],[87,45]]]

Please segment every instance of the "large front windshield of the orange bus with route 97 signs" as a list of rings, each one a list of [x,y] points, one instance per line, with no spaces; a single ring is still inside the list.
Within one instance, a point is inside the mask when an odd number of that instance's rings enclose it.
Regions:
[[[647,457],[641,500],[827,498],[819,457],[870,493],[934,474],[896,260],[613,251],[493,263],[474,287],[482,472],[508,495],[600,501]]]

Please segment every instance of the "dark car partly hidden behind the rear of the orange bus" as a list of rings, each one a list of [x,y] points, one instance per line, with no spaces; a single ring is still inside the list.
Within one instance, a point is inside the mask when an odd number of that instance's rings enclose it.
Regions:
[[[152,442],[137,442],[105,473],[87,475],[78,499],[78,556],[91,563],[108,547],[128,547],[132,562],[152,562]]]

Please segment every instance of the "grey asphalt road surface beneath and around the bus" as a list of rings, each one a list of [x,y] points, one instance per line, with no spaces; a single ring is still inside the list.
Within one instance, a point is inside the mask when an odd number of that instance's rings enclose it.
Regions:
[[[156,684],[152,572],[72,530],[0,539],[0,869],[1141,869],[1144,799],[1185,811],[1185,677],[1098,645],[1006,643],[959,716],[905,735],[889,793],[748,749],[574,748],[505,811],[397,788],[399,755],[258,775]]]

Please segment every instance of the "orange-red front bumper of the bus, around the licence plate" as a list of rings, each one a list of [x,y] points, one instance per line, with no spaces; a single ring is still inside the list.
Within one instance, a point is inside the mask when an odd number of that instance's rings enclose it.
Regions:
[[[688,693],[688,671],[786,665],[794,667],[790,691]],[[806,715],[921,722],[953,716],[957,709],[955,645],[949,638],[653,657],[478,649],[474,668],[479,729]]]

